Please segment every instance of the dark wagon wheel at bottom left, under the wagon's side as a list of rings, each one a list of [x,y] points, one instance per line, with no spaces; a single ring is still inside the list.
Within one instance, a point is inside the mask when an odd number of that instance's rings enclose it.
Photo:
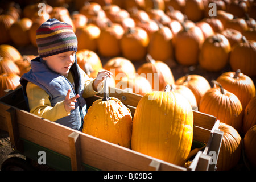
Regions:
[[[33,171],[35,170],[26,160],[18,157],[11,157],[2,163],[2,171]]]

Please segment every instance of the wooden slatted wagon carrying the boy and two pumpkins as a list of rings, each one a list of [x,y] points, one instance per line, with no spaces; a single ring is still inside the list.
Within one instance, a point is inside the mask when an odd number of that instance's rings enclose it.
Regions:
[[[132,115],[142,96],[109,88],[109,96],[119,98]],[[102,94],[86,99],[88,106]],[[204,143],[188,167],[177,166],[128,148],[92,137],[26,110],[22,89],[11,90],[0,98],[0,129],[9,133],[11,146],[22,155],[38,161],[40,151],[47,166],[56,170],[214,170],[223,133],[212,115],[193,111],[193,143]],[[214,156],[212,154],[215,154]]]

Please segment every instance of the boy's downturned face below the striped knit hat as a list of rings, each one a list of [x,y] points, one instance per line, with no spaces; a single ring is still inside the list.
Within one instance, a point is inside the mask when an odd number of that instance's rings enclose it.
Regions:
[[[57,55],[44,57],[43,60],[52,71],[59,73],[60,75],[67,75],[69,69],[75,63],[76,51],[68,51],[59,53]]]

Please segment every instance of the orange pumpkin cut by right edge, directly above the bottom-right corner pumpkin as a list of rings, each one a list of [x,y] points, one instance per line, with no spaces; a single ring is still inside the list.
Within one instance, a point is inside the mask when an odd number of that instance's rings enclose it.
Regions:
[[[243,134],[246,134],[250,127],[254,125],[256,125],[256,96],[251,98],[245,107],[245,113],[243,115]]]

